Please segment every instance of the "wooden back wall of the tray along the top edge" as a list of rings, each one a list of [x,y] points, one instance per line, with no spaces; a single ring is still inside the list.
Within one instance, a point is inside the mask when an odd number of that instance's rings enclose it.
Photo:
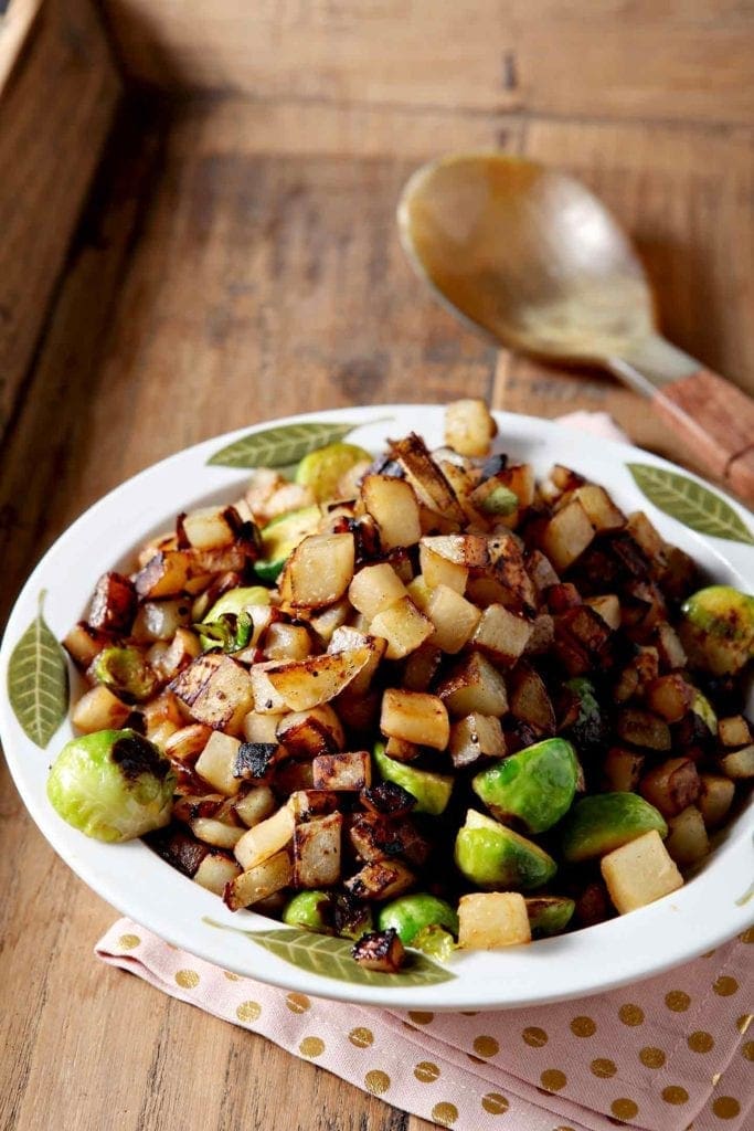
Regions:
[[[162,87],[751,124],[736,0],[105,0],[127,72]]]

